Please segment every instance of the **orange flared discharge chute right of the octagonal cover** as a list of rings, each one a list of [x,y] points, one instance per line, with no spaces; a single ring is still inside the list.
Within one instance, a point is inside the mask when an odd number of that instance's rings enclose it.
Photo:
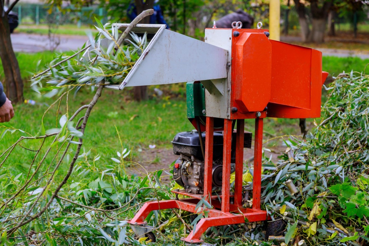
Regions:
[[[323,76],[321,52],[278,41],[270,42],[273,47],[272,99],[268,104],[268,117],[320,117]],[[282,55],[282,49],[285,55]]]

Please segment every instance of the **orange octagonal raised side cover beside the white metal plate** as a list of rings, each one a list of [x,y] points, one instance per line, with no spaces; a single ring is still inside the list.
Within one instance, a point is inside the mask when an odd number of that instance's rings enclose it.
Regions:
[[[232,41],[231,107],[263,111],[270,100],[272,45],[263,33],[241,32]],[[235,115],[234,115],[235,116]]]

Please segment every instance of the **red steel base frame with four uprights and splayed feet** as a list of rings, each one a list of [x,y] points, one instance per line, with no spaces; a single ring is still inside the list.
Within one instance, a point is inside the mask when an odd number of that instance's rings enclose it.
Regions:
[[[263,116],[262,116],[263,117]],[[237,120],[237,136],[236,136],[236,167],[235,167],[235,184],[234,195],[230,194],[230,158],[231,158],[231,137],[232,137],[232,120],[224,120],[224,143],[223,143],[223,180],[221,202],[217,195],[211,195],[212,184],[212,164],[213,164],[213,131],[214,118],[206,117],[206,141],[205,141],[205,173],[204,173],[204,195],[189,194],[183,191],[173,191],[177,194],[188,195],[192,198],[167,201],[146,202],[137,212],[134,218],[128,221],[131,225],[145,225],[145,219],[151,211],[161,209],[179,208],[184,211],[196,213],[196,205],[199,199],[210,201],[214,207],[212,209],[203,208],[208,211],[208,217],[200,219],[196,225],[196,231],[183,240],[187,243],[203,242],[201,235],[211,226],[241,224],[245,222],[265,221],[269,219],[266,211],[260,209],[261,196],[261,157],[263,142],[263,118],[255,119],[255,146],[254,146],[254,177],[252,191],[252,208],[242,207],[242,172],[243,172],[243,144],[244,144],[244,119]],[[233,204],[230,198],[233,198]],[[234,214],[235,213],[235,214]]]

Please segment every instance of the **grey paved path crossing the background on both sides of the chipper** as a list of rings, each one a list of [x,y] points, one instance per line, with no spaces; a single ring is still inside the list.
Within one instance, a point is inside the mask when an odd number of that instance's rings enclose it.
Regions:
[[[87,36],[79,35],[59,35],[60,44],[56,48],[57,51],[76,50],[87,41]],[[53,42],[50,42],[47,35],[15,33],[11,34],[11,41],[15,52],[40,52],[50,50]],[[291,41],[283,40],[282,41]],[[363,52],[354,52],[346,49],[324,49],[317,48],[323,53],[323,56],[348,57],[358,56],[361,59],[369,59],[369,44],[368,50]]]

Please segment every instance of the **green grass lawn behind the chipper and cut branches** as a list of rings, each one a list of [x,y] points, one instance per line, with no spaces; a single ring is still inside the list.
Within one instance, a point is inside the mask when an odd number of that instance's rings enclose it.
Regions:
[[[72,53],[72,52],[71,52]],[[17,58],[22,71],[22,76],[27,80],[35,71],[37,63],[41,60],[41,64],[54,58],[52,52],[41,52],[34,54],[18,53]],[[342,70],[351,71],[350,68],[361,71],[364,69],[369,60],[361,60],[359,58],[323,58],[323,70],[337,75]],[[349,70],[348,70],[349,69]],[[0,72],[1,73],[1,72]],[[176,90],[183,91],[184,84],[160,87],[164,91]],[[150,89],[150,93],[152,93]],[[183,93],[183,92],[182,92]],[[107,157],[114,157],[116,152],[121,148],[118,141],[118,134],[123,141],[125,148],[132,149],[133,158],[139,155],[139,149],[148,149],[148,145],[157,145],[158,148],[170,148],[170,141],[177,132],[190,131],[193,126],[186,118],[186,101],[181,96],[177,99],[157,99],[152,98],[149,101],[137,103],[130,100],[130,91],[114,91],[104,89],[96,107],[89,118],[89,124],[86,129],[86,139],[83,145],[85,151],[91,150],[92,155],[100,154]],[[54,99],[39,98],[36,93],[29,89],[29,82],[25,82],[25,99],[37,101],[37,105],[18,104],[15,105],[15,117],[11,121],[14,128],[22,129],[30,134],[37,134],[41,124],[41,118],[44,111],[47,109],[46,104],[50,105]],[[93,96],[90,90],[80,91],[76,97],[71,93],[68,98],[68,114],[81,105],[89,103]],[[128,98],[128,99],[127,99]],[[54,107],[46,114],[44,119],[45,129],[58,127],[57,118],[67,113],[66,98],[56,114],[57,110]],[[310,119],[308,122],[309,128],[313,127]],[[117,129],[116,129],[116,128]],[[254,122],[246,120],[246,130],[254,131]],[[300,134],[297,119],[265,119],[265,139],[273,136],[285,134]],[[14,134],[6,134],[0,141],[0,152],[3,152],[11,145],[18,137],[20,132]],[[28,141],[24,143],[25,148],[35,149],[40,141]],[[265,147],[272,148],[274,145],[281,144],[280,139],[268,142]],[[12,161],[15,164],[23,165],[27,168],[27,164],[33,153],[25,151],[17,147]]]

